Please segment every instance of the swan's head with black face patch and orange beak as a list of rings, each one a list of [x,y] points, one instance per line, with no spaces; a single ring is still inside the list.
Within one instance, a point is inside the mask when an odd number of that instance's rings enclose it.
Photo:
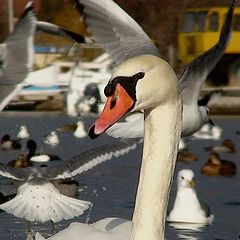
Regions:
[[[89,130],[96,138],[127,112],[154,108],[178,98],[177,77],[167,62],[141,55],[123,62],[105,87],[105,107]]]

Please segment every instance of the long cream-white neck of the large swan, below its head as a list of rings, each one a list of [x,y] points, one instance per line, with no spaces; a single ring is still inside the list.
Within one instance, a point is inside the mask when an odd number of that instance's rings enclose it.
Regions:
[[[164,240],[181,130],[180,102],[145,112],[144,148],[131,240]]]

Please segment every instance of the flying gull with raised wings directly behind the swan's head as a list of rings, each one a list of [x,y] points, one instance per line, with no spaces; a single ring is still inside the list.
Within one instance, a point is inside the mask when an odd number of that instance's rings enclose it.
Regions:
[[[85,21],[89,31],[94,35],[96,41],[105,48],[112,60],[116,63],[121,62],[126,57],[134,56],[139,53],[153,54],[160,56],[161,54],[149,43],[150,39],[146,33],[140,29],[140,26],[135,26],[136,23],[131,23],[128,26],[122,20],[122,15],[112,14],[109,9],[114,9],[111,3],[103,3],[100,8],[91,8],[90,4],[96,6],[94,0],[91,0],[89,5],[85,0],[80,0],[80,3],[85,6]],[[99,7],[99,6],[98,6]],[[228,13],[226,14],[225,22],[222,25],[221,34],[218,42],[205,53],[194,59],[185,68],[179,76],[179,88],[183,102],[183,124],[182,137],[191,136],[206,124],[213,124],[209,117],[209,109],[207,106],[198,104],[198,99],[201,93],[201,87],[207,79],[208,74],[221,59],[227,47],[228,40],[231,36],[232,17],[235,7],[235,1],[232,0]],[[84,12],[84,9],[86,11]],[[99,16],[98,9],[102,9]],[[107,13],[107,14],[106,14]],[[109,18],[111,16],[111,18]],[[98,19],[99,21],[95,21]],[[114,19],[114,21],[112,20]],[[130,19],[130,17],[126,17]],[[101,25],[99,24],[101,23]],[[99,30],[105,26],[103,33]],[[121,27],[120,27],[121,26]],[[123,28],[124,26],[124,28]],[[136,29],[133,29],[133,26]],[[106,31],[107,28],[107,31]],[[106,33],[107,32],[107,33]],[[135,38],[134,38],[135,37]],[[134,46],[131,40],[134,38]],[[122,39],[124,41],[122,42]],[[117,49],[117,50],[116,50]],[[126,56],[123,56],[126,54]],[[108,129],[107,134],[112,137],[133,138],[143,137],[143,114],[140,119],[129,122],[124,119],[118,124],[115,124]],[[119,134],[121,131],[121,134]]]

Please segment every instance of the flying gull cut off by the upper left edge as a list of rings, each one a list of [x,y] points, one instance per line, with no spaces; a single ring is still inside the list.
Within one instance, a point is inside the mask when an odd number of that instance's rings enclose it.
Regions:
[[[23,80],[32,71],[34,58],[34,34],[37,31],[65,37],[84,43],[85,38],[61,26],[37,21],[33,2],[29,1],[15,28],[1,44],[3,65],[0,69],[0,111],[25,85]]]

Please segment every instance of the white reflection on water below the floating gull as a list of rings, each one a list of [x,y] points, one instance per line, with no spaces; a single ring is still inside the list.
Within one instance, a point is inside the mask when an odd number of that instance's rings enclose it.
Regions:
[[[203,232],[206,224],[203,223],[182,223],[169,222],[168,225],[177,230],[179,239],[200,240],[199,232]]]

